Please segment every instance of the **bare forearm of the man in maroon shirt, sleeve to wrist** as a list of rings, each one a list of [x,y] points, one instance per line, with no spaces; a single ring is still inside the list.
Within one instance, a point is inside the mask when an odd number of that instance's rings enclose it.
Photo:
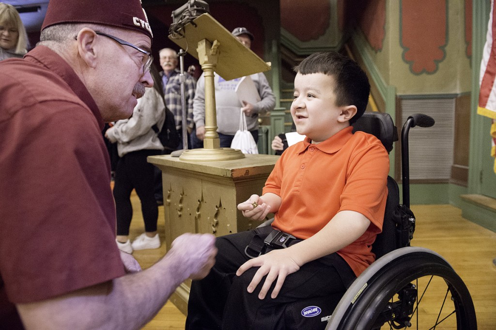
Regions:
[[[17,308],[27,330],[140,329],[189,276],[184,268],[171,251],[141,272]]]

